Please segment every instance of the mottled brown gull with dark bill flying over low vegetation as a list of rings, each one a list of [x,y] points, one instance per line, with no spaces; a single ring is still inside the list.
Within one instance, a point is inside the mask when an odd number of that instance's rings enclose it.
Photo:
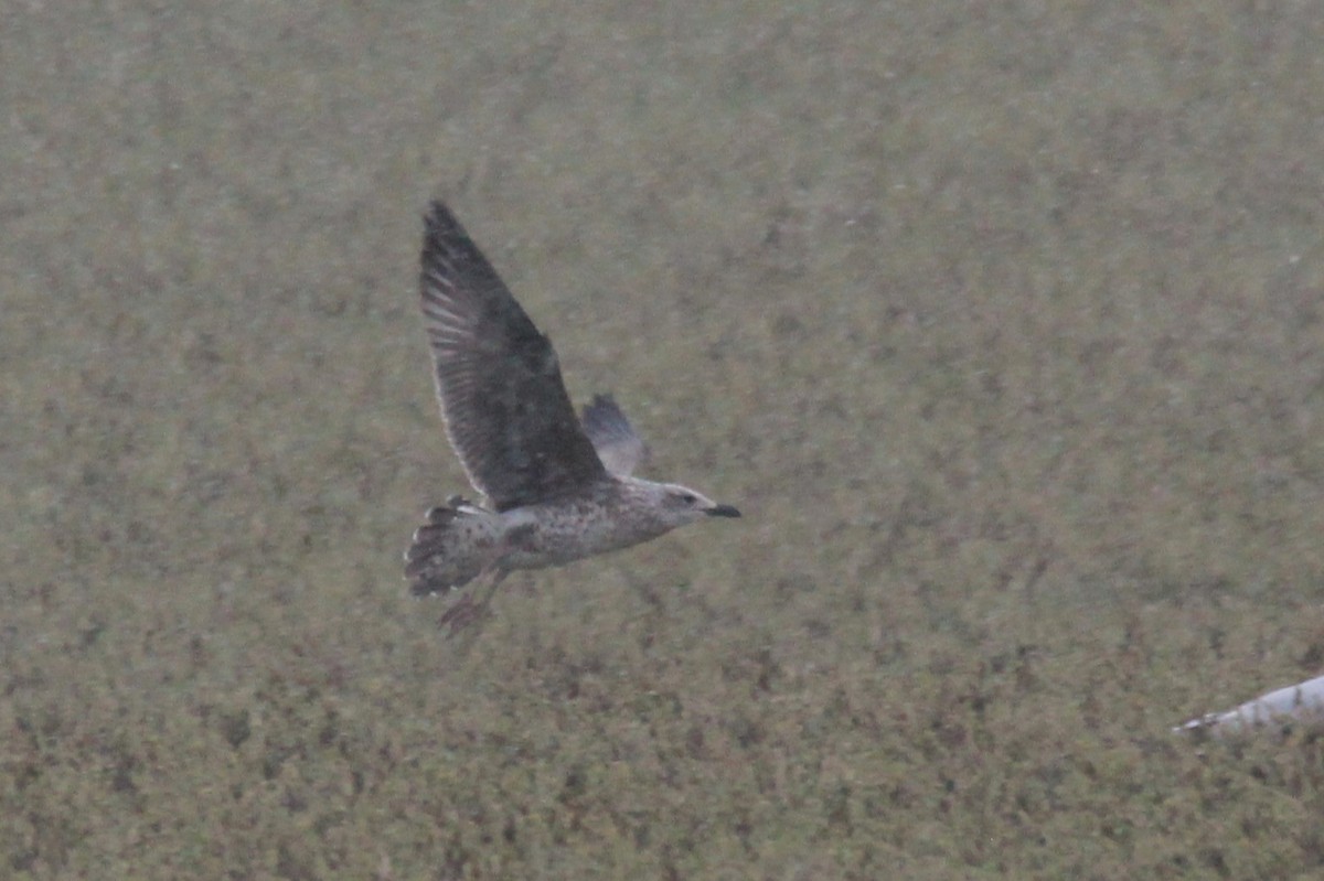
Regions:
[[[629,419],[605,394],[575,415],[551,341],[440,201],[425,218],[420,288],[446,435],[485,500],[451,496],[432,508],[405,552],[416,595],[475,582],[442,615],[451,632],[486,615],[516,569],[740,516],[687,487],[632,476],[646,448]]]

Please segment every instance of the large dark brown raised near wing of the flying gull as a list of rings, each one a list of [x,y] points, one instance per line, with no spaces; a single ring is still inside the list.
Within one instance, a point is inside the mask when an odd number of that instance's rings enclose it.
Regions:
[[[498,511],[606,478],[552,344],[441,202],[425,220],[422,314],[446,434]]]

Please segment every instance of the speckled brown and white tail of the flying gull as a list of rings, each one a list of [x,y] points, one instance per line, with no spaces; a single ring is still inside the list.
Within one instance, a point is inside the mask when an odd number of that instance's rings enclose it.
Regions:
[[[493,565],[500,537],[500,517],[463,499],[430,509],[405,552],[409,591],[426,597],[467,585]]]

